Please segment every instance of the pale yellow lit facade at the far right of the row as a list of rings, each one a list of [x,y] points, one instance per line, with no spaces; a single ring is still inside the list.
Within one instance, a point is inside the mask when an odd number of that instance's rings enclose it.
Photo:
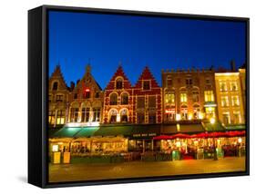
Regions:
[[[224,125],[244,124],[241,73],[215,73],[219,119]]]

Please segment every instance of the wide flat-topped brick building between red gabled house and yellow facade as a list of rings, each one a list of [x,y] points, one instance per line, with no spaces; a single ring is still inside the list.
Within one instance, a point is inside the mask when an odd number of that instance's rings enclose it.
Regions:
[[[162,71],[164,122],[216,117],[213,70]]]

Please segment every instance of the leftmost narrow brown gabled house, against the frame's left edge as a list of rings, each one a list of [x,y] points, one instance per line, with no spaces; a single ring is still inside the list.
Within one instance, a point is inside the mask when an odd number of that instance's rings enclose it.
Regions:
[[[68,88],[61,73],[60,65],[56,65],[48,82],[48,123],[50,128],[60,127],[67,121]]]

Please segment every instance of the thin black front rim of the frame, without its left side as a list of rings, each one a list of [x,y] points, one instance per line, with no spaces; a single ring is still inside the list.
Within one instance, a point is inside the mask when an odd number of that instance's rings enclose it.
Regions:
[[[118,10],[118,9],[101,9],[101,8],[88,8],[88,7],[75,7],[75,6],[57,6],[57,5],[42,5],[42,188],[61,188],[61,187],[75,187],[75,186],[90,186],[90,185],[106,185],[106,184],[120,184],[120,183],[136,183],[148,181],[163,181],[163,180],[179,180],[179,179],[209,179],[209,178],[222,178],[234,176],[248,176],[250,175],[250,18],[248,17],[230,17],[230,16],[216,16],[216,15],[187,15],[187,14],[171,14],[159,12],[145,12],[133,10]],[[225,20],[246,23],[246,170],[241,172],[220,172],[210,174],[189,174],[189,175],[175,175],[165,177],[149,177],[149,178],[130,178],[130,179],[106,179],[106,180],[91,180],[79,182],[48,182],[48,163],[47,163],[47,123],[46,123],[46,110],[47,110],[47,78],[48,78],[48,53],[47,53],[47,11],[58,10],[67,12],[95,12],[102,14],[120,14],[120,15],[148,15],[148,16],[171,16],[183,17],[191,19],[203,20]],[[29,119],[29,118],[28,118]]]

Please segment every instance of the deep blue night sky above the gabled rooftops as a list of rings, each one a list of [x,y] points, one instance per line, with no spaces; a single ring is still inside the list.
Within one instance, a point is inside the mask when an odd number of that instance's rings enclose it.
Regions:
[[[134,84],[145,65],[161,69],[230,68],[246,58],[245,23],[129,15],[49,12],[49,74],[60,63],[67,85],[89,62],[104,89],[122,63]]]

